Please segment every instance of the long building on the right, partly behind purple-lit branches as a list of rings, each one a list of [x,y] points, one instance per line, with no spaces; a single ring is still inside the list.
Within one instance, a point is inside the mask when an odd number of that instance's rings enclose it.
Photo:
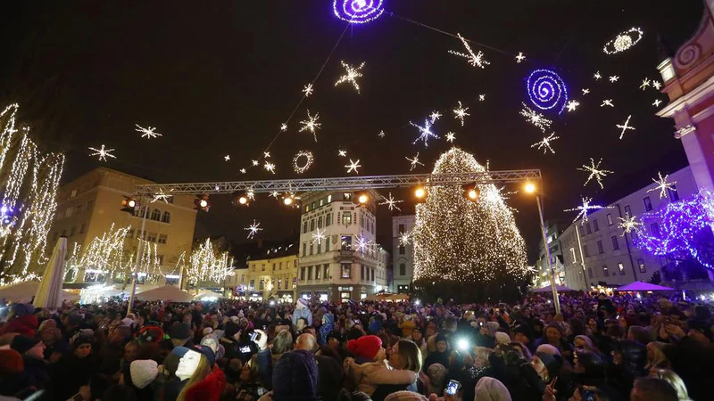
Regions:
[[[565,285],[589,290],[596,285],[613,287],[647,281],[661,266],[666,266],[665,258],[636,248],[632,241],[636,233],[625,233],[619,225],[625,217],[641,217],[643,213],[665,207],[668,202],[689,198],[698,192],[689,167],[670,174],[668,182],[676,184],[672,190],[665,191],[662,198],[657,184],[652,183],[604,209],[589,213],[586,222],[578,220],[570,225],[560,235]],[[658,223],[643,228],[649,233],[660,231]]]

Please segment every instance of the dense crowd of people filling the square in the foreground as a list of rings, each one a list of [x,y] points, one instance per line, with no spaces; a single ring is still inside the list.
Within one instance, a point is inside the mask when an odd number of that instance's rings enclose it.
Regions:
[[[696,401],[712,307],[581,293],[518,304],[120,300],[0,323],[0,400]]]

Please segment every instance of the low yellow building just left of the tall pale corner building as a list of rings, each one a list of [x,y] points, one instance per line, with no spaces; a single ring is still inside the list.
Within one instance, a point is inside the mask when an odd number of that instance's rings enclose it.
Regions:
[[[294,302],[297,299],[297,252],[297,244],[291,243],[249,258],[247,272],[244,270],[236,280],[237,285],[245,285],[245,297]]]

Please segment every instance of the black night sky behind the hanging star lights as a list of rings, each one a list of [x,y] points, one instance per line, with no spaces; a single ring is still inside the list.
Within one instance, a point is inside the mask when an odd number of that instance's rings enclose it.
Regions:
[[[673,122],[654,115],[655,99],[666,96],[638,89],[643,78],[660,80],[656,70],[667,48],[690,37],[703,4],[685,1],[386,0],[398,17],[419,21],[501,49],[482,49],[491,65],[475,69],[447,53],[463,51],[458,39],[387,13],[348,29],[315,85],[315,93],[295,113],[286,133],[270,148],[275,176],[247,167],[278,134],[280,123],[302,97],[328,58],[346,23],[327,0],[190,1],[14,1],[2,5],[0,100],[20,102],[20,121],[46,151],[64,151],[64,182],[98,165],[88,146],[105,143],[117,160],[109,168],[158,182],[274,179],[297,176],[296,151],[310,150],[315,163],[303,176],[345,176],[345,149],[361,160],[361,175],[405,174],[419,151],[426,173],[449,148],[443,138],[427,149],[412,144],[432,110],[444,118],[436,133],[456,133],[456,144],[490,160],[492,169],[540,168],[544,175],[546,219],[571,219],[562,209],[579,204],[581,194],[614,201],[663,173],[685,166]],[[606,55],[602,46],[619,32],[641,27],[640,44]],[[659,38],[659,39],[658,39]],[[475,50],[479,48],[473,45]],[[513,55],[526,53],[516,63]],[[366,61],[361,94],[334,87],[339,61]],[[555,155],[529,146],[541,132],[519,116],[527,102],[525,78],[536,68],[556,70],[580,102],[573,113],[550,117],[560,140]],[[619,81],[594,81],[595,70]],[[589,87],[591,94],[582,95]],[[486,102],[478,102],[486,94]],[[601,108],[611,98],[615,108]],[[460,127],[452,108],[461,100],[471,116]],[[663,103],[663,105],[666,104]],[[660,106],[660,107],[663,107]],[[320,112],[318,143],[297,134],[306,109]],[[627,116],[635,131],[622,141]],[[134,124],[158,127],[164,136],[147,141]],[[386,132],[378,138],[380,130]],[[223,156],[230,154],[231,161]],[[603,158],[605,189],[583,187],[576,170],[589,158]],[[386,194],[386,192],[384,192]],[[393,191],[408,198],[405,191]],[[518,224],[531,250],[538,241],[535,201],[512,195]],[[403,212],[413,211],[409,201]],[[378,217],[378,239],[391,248],[388,211]],[[262,195],[249,209],[236,210],[228,197],[213,197],[212,210],[199,217],[196,235],[225,233],[245,241],[243,227],[262,222],[263,238],[284,238],[298,227],[298,212]],[[533,253],[533,252],[531,252]]]

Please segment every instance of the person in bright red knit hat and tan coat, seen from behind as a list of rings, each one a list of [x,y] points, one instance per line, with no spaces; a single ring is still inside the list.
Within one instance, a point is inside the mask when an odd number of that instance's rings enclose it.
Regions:
[[[386,362],[386,352],[382,348],[382,340],[377,336],[362,336],[357,340],[350,340],[347,343],[347,349],[354,356],[371,360],[364,364],[356,364],[353,358],[345,358],[343,364],[345,373],[354,383],[357,383],[357,391],[371,396],[380,384],[409,385],[417,381],[416,372],[393,369]]]

